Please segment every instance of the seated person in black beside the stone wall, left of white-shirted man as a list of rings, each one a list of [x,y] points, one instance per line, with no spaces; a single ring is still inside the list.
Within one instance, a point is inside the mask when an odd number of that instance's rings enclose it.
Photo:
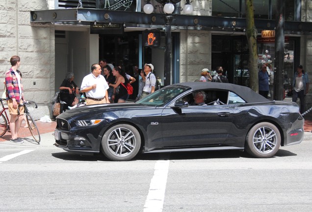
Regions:
[[[76,94],[79,94],[79,88],[74,82],[74,73],[67,72],[65,79],[63,80],[60,89],[60,99],[66,102],[69,106],[75,106],[78,104]]]

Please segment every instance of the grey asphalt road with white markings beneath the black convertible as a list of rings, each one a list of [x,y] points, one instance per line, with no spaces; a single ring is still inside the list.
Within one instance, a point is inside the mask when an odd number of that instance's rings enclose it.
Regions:
[[[42,143],[0,142],[1,212],[308,212],[312,133],[274,158],[239,151],[114,162]],[[15,155],[14,155],[15,154]]]

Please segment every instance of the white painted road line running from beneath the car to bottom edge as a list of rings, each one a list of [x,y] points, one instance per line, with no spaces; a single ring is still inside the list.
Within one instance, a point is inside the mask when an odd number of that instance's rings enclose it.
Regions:
[[[165,198],[170,160],[158,160],[155,164],[154,176],[149,193],[145,200],[144,212],[162,212]]]

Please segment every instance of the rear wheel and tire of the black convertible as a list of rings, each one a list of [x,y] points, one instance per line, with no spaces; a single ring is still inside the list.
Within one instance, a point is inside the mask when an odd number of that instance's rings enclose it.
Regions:
[[[250,129],[246,136],[245,150],[256,158],[271,158],[279,150],[281,133],[269,122],[261,122]]]

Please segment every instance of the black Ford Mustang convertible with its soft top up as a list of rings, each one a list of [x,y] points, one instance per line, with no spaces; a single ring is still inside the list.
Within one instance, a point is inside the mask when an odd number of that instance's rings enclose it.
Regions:
[[[206,105],[194,104],[202,91]],[[218,82],[166,86],[136,103],[82,106],[56,117],[55,146],[130,160],[139,152],[246,150],[257,158],[300,143],[304,118],[292,102]]]

